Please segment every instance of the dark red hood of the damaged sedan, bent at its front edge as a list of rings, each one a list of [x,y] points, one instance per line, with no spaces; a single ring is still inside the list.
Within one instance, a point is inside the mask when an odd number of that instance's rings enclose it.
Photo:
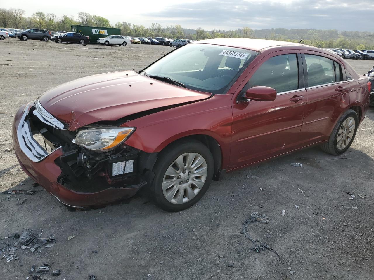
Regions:
[[[98,121],[116,121],[134,113],[210,97],[134,71],[93,75],[46,91],[39,97],[53,116],[74,131]]]

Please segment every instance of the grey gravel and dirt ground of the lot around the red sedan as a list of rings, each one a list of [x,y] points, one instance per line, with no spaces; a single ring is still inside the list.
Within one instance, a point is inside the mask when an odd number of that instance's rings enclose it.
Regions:
[[[0,191],[43,189],[32,186],[13,152],[4,152],[12,148],[10,130],[19,106],[76,78],[142,69],[170,50],[0,41],[0,110],[7,111],[0,114]],[[350,63],[359,74],[374,65],[371,60]],[[7,262],[1,255],[0,279],[31,278],[31,265],[46,262],[61,275],[49,272],[43,277],[61,280],[88,279],[89,274],[98,280],[373,279],[373,132],[370,109],[352,147],[341,157],[315,147],[232,172],[180,213],[164,212],[145,196],[99,210],[69,212],[46,191],[0,195],[0,238],[31,228],[41,237],[55,234],[57,239],[34,253],[18,248],[18,260]],[[345,191],[356,197],[350,200]],[[22,198],[27,201],[16,205]],[[242,221],[255,211],[268,215],[270,223],[251,224],[250,233],[273,246],[282,260],[272,252],[252,251],[252,243],[240,234]],[[0,246],[7,240],[0,240]]]

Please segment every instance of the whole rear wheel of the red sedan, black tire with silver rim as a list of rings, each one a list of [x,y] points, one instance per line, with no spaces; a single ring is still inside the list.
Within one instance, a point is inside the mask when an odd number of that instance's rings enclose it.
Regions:
[[[351,127],[354,122],[354,128]],[[344,131],[344,129],[346,129]],[[322,144],[321,149],[331,155],[341,155],[349,149],[356,136],[358,116],[355,111],[348,109],[337,121],[328,141]],[[341,139],[341,141],[339,141]],[[340,145],[339,145],[340,144]]]

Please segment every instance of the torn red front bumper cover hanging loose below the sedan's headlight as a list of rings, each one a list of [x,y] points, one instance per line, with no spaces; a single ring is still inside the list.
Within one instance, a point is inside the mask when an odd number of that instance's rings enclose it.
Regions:
[[[55,160],[63,154],[61,147],[46,155],[44,158],[39,159],[39,161],[36,161],[35,158],[30,158],[30,153],[24,152],[25,140],[22,136],[20,137],[18,131],[19,124],[24,122],[25,114],[22,113],[24,108],[25,106],[22,106],[18,110],[12,126],[13,146],[18,162],[27,175],[65,205],[74,208],[104,206],[134,196],[135,193],[146,184],[145,181],[143,181],[137,186],[126,186],[122,188],[114,188],[108,185],[107,189],[99,192],[76,192],[62,186],[62,184],[58,183],[58,177],[61,175],[61,168],[55,164]]]

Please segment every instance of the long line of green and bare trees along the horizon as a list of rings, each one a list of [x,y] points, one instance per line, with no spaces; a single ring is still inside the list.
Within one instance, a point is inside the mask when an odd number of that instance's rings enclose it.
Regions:
[[[129,22],[117,22],[112,25],[102,16],[79,12],[77,17],[63,15],[59,18],[54,13],[35,12],[30,17],[25,17],[22,9],[0,8],[0,26],[4,28],[43,28],[49,31],[70,31],[71,25],[86,25],[97,27],[121,28],[121,35],[134,37],[166,37],[173,39],[203,40],[211,38],[258,38],[268,40],[280,40],[323,48],[343,49],[374,49],[374,33],[360,31],[338,31],[336,29],[258,29],[249,27],[236,30],[204,30],[202,28],[187,29],[181,25],[166,25],[153,23],[150,27],[131,24]]]

